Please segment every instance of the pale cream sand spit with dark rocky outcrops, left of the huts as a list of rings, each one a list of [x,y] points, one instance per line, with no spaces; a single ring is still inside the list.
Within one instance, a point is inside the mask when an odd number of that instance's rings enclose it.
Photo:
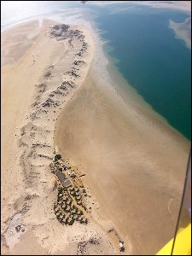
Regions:
[[[2,253],[113,254],[96,223],[66,228],[53,209],[56,180],[49,164],[55,120],[88,73],[94,54],[90,32],[49,20],[39,29],[34,21],[17,26],[15,45],[31,26],[36,36],[25,36],[28,48],[15,49],[15,62],[9,62],[14,48],[6,51],[12,42],[3,41]]]

